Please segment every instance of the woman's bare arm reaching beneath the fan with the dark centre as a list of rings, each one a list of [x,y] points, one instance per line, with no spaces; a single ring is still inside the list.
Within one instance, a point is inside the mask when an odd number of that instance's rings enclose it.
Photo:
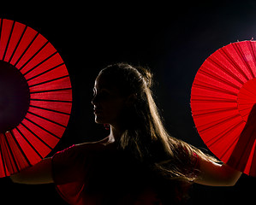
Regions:
[[[27,184],[27,185],[39,185],[53,183],[51,173],[51,158],[45,158],[39,161],[33,167],[27,167],[22,170],[21,173],[16,173],[11,176],[15,183]]]

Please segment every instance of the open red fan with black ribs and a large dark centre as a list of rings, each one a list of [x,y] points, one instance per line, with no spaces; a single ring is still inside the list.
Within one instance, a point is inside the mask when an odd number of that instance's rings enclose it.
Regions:
[[[72,106],[68,71],[39,32],[0,19],[0,177],[48,155]]]

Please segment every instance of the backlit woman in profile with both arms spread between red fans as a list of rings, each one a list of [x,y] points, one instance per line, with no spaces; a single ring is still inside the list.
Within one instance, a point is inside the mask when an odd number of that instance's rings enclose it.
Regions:
[[[152,74],[117,63],[98,74],[92,105],[110,135],[78,144],[11,177],[55,183],[70,204],[181,204],[188,185],[235,185],[241,173],[171,137],[152,98]]]

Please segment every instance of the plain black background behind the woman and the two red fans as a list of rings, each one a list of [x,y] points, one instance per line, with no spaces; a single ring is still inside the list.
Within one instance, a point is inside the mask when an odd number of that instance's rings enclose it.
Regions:
[[[41,33],[68,67],[72,114],[50,156],[71,144],[106,136],[103,126],[94,123],[92,87],[98,71],[118,61],[151,67],[156,102],[167,130],[206,149],[191,115],[193,78],[215,50],[237,40],[256,38],[255,1],[3,4],[0,17]],[[190,204],[252,203],[255,182],[243,175],[234,187],[193,185]],[[1,204],[66,204],[54,185],[15,185],[4,178],[0,188]]]

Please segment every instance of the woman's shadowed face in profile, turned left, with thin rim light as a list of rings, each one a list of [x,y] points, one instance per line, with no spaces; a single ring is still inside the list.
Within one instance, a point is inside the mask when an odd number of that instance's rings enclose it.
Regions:
[[[115,125],[122,121],[122,110],[125,108],[126,97],[110,80],[99,75],[93,88],[92,105],[95,122]]]

